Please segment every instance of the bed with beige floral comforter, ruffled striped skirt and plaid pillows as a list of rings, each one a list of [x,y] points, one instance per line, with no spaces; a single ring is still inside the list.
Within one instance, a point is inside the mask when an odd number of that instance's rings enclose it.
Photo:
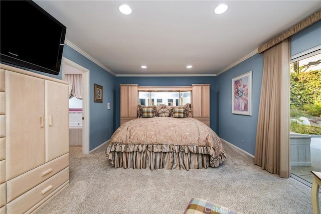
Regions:
[[[218,167],[226,155],[220,138],[189,117],[188,106],[141,106],[138,118],[112,135],[106,157],[115,168],[200,169]]]

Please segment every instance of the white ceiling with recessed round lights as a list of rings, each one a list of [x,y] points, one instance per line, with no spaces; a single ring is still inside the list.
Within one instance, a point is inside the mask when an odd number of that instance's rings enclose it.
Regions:
[[[35,2],[67,27],[68,41],[117,75],[221,73],[321,8],[320,1]],[[215,15],[221,3],[229,9]],[[122,4],[130,16],[118,11]]]

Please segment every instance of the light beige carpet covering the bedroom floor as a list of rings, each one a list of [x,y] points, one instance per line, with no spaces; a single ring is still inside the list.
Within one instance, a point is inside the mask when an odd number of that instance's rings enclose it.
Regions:
[[[106,146],[70,147],[70,185],[35,213],[183,213],[193,197],[243,213],[312,213],[311,188],[224,144],[227,160],[195,170],[114,169]]]

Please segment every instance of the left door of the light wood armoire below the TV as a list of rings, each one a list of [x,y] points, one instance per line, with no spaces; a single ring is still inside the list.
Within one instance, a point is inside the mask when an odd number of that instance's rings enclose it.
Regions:
[[[45,163],[45,81],[6,71],[6,177]]]

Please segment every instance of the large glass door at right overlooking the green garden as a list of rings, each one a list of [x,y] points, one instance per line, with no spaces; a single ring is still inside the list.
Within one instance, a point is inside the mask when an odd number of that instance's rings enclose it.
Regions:
[[[311,185],[321,171],[321,50],[290,63],[291,176]],[[302,135],[303,134],[303,135]]]

